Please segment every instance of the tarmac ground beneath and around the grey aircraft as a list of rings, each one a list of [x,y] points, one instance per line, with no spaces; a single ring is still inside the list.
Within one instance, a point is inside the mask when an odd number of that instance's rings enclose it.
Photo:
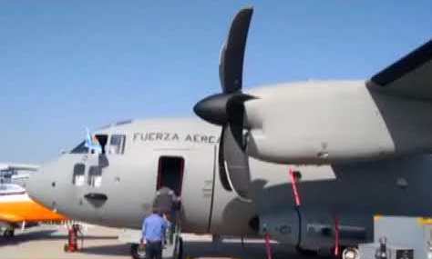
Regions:
[[[15,231],[15,237],[0,237],[0,259],[130,259],[129,244],[118,241],[120,229],[88,225],[84,230],[82,249],[77,253],[63,250],[67,243],[67,229],[60,225],[41,225]],[[266,258],[265,247],[261,241],[245,240],[242,245],[238,239],[222,239],[211,243],[209,236],[185,234],[184,258]],[[79,240],[81,246],[81,240]],[[273,259],[279,258],[323,258],[301,256],[293,247],[273,244]]]

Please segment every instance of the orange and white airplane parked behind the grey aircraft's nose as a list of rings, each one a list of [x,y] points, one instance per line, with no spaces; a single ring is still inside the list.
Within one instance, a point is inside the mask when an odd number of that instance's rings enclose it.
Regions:
[[[36,165],[29,164],[0,164],[0,229],[4,230],[5,237],[14,236],[18,226],[24,230],[26,224],[67,220],[65,216],[37,204],[23,186],[14,183],[25,185],[29,176],[17,174],[18,171],[35,172],[37,168]]]

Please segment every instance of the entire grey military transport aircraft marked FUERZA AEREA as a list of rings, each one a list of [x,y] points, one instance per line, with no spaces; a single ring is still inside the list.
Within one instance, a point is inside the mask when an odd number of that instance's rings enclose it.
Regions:
[[[101,153],[82,142],[44,164],[28,183],[32,197],[71,218],[139,228],[168,185],[181,196],[184,232],[267,233],[301,251],[371,241],[375,214],[432,216],[432,42],[365,82],[243,93],[251,18],[242,9],[223,45],[223,93],[195,106],[214,125],[100,129]]]

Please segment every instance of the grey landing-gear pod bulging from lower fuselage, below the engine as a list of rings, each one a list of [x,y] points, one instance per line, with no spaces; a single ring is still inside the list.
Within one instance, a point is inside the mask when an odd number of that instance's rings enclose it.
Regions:
[[[283,210],[260,216],[260,233],[266,232],[283,244],[307,250],[328,250],[335,245],[335,219],[330,212]],[[337,215],[339,245],[353,246],[373,240],[373,216]]]

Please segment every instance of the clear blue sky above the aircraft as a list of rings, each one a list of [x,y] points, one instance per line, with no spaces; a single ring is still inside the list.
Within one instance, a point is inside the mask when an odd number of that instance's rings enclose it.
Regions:
[[[255,13],[244,85],[366,79],[432,35],[432,1],[0,1],[0,162],[42,163],[84,127],[192,116],[220,91],[232,16]]]

